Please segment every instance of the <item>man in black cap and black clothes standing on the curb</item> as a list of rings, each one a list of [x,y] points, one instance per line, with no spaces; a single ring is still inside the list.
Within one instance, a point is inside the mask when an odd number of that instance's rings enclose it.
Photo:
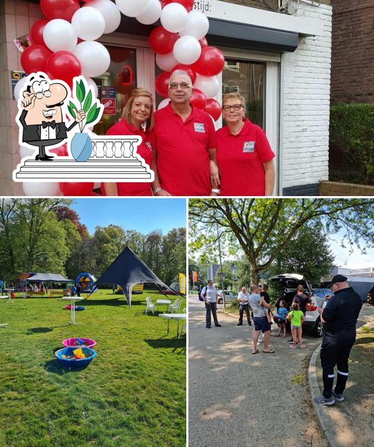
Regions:
[[[334,295],[326,307],[319,308],[323,322],[321,366],[323,371],[323,394],[314,398],[317,405],[333,405],[344,401],[343,392],[348,379],[348,358],[356,339],[356,323],[362,308],[362,299],[347,282],[337,274],[329,286]],[[337,383],[334,383],[334,368],[337,365]],[[334,398],[335,397],[335,398]]]

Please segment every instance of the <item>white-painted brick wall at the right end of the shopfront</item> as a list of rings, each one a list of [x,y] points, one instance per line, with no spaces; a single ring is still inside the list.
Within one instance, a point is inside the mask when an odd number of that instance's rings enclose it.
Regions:
[[[323,35],[301,37],[281,59],[281,189],[328,179],[332,8],[301,5]]]

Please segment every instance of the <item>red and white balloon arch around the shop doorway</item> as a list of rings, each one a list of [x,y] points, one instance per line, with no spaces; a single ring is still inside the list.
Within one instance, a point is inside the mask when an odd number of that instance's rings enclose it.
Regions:
[[[74,76],[79,75],[94,84],[91,78],[105,73],[110,64],[109,52],[96,40],[118,28],[121,13],[146,25],[160,19],[161,26],[149,36],[150,48],[162,70],[155,80],[157,93],[167,98],[171,73],[183,69],[193,80],[191,104],[217,121],[220,105],[213,98],[220,91],[217,76],[224,67],[224,56],[208,45],[205,37],[208,19],[193,10],[193,3],[193,0],[115,0],[115,3],[89,0],[80,6],[78,0],[40,0],[44,18],[30,28],[31,45],[21,54],[22,68],[27,74],[44,71],[51,79],[62,79],[70,86]],[[21,84],[16,86],[16,99],[20,90]],[[159,108],[167,103],[161,101]],[[82,187],[80,193],[87,195],[91,186]],[[71,192],[66,185],[60,190],[62,194]]]

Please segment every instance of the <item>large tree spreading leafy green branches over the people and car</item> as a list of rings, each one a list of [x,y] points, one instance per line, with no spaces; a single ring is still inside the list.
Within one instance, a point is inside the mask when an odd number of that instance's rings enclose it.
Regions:
[[[253,283],[305,225],[318,225],[326,235],[340,230],[362,252],[373,247],[372,199],[191,199],[189,206],[190,246],[215,245],[217,238],[235,252],[239,246]]]

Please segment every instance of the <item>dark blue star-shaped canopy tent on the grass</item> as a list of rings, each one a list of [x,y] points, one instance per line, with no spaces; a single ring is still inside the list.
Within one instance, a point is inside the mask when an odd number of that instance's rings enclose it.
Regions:
[[[161,292],[162,288],[166,288],[180,295],[176,290],[166,286],[129,247],[126,247],[109,265],[95,285],[119,284],[125,293],[127,304],[131,307],[132,288],[139,283],[153,283]]]

